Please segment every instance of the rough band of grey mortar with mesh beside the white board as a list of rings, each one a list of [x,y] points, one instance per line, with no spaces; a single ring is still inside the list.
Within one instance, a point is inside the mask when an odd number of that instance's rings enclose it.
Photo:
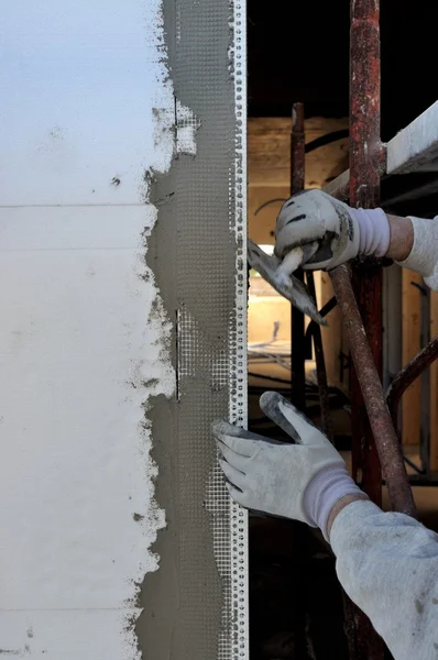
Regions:
[[[210,424],[228,416],[236,299],[230,4],[164,0],[164,20],[175,97],[200,128],[197,155],[177,156],[169,173],[152,184],[158,219],[146,258],[175,322],[178,388],[172,400],[155,398],[147,414],[158,465],[156,499],[167,527],[153,547],[160,569],[144,580],[136,634],[145,660],[213,660],[230,625],[222,616],[227,585],[213,554],[213,536],[216,530],[227,535],[228,514],[208,505],[215,464]],[[215,488],[223,496],[223,486]]]

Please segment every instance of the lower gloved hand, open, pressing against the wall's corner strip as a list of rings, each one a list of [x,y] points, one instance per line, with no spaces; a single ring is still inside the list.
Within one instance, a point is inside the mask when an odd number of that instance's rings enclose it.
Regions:
[[[327,539],[333,506],[347,495],[363,495],[362,491],[329,440],[284,397],[266,392],[260,407],[296,444],[215,422],[231,497],[245,508],[319,527]]]

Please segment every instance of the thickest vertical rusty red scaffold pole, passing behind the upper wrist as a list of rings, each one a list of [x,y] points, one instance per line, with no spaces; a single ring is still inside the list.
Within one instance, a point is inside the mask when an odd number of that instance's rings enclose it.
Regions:
[[[379,0],[351,0],[350,32],[350,204],[380,202],[380,29]],[[347,273],[346,273],[347,277]],[[382,268],[353,266],[352,284],[376,370],[382,376]],[[351,373],[352,470],[363,491],[382,504],[379,454],[358,382]]]

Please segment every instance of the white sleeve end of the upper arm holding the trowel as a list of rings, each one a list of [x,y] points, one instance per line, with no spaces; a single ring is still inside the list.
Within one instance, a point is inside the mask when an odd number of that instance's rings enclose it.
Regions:
[[[398,264],[421,275],[427,286],[438,292],[438,217],[434,220],[409,219],[414,228],[414,244],[409,256]]]

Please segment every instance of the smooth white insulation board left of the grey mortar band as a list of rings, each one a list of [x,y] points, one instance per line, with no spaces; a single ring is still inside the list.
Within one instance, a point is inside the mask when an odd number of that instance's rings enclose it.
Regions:
[[[183,386],[168,301],[177,273],[163,304],[146,254],[160,206],[156,195],[151,201],[154,182],[176,156],[194,160],[199,121],[175,97],[163,21],[157,0],[2,7],[0,654],[167,653],[167,638],[164,650],[160,638],[139,646],[135,630],[141,584],[161,560],[157,532],[167,524],[179,538],[178,510],[169,516],[155,495],[156,484],[174,487],[175,474],[151,455],[164,429],[178,437],[176,417],[153,419],[156,402],[176,406]],[[227,57],[220,67],[228,72]],[[233,163],[233,147],[228,157]],[[229,172],[220,176],[227,185]],[[223,221],[229,232],[228,205]],[[169,222],[176,230],[177,215]],[[236,263],[230,235],[228,244]],[[234,268],[223,277],[233,292]],[[228,295],[226,314],[233,301]],[[226,388],[217,410],[225,416],[228,399]],[[196,481],[196,465],[197,458],[184,464],[187,479]],[[199,525],[200,557],[209,552],[204,585],[216,584],[216,627],[206,632],[215,657],[222,606],[215,528],[210,519]],[[168,593],[147,616],[160,626],[174,605]]]

